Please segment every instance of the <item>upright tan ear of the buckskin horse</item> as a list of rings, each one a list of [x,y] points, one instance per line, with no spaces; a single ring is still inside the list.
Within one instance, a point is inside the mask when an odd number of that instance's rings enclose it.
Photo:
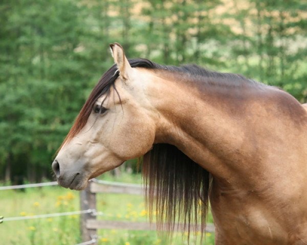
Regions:
[[[115,42],[110,44],[110,48],[114,62],[119,70],[119,76],[121,76],[123,79],[128,79],[131,66],[125,56],[123,47],[119,43]]]

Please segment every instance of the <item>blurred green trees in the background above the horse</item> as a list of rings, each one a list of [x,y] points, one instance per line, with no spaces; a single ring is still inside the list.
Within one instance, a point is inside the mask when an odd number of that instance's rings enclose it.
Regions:
[[[115,41],[130,58],[238,72],[306,102],[306,10],[277,0],[1,1],[0,178],[50,178]]]

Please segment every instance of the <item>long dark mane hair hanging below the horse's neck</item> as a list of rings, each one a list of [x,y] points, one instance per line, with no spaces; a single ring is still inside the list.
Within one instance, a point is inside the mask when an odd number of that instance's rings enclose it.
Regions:
[[[143,158],[145,201],[159,230],[206,231],[211,175],[176,146],[154,144]],[[179,224],[183,224],[183,227]]]

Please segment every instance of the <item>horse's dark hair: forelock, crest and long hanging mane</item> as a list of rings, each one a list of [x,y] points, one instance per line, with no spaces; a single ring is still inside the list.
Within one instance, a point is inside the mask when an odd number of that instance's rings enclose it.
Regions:
[[[203,80],[204,83],[208,83],[208,79],[204,78],[216,78],[218,86],[256,84],[240,75],[223,74],[196,65],[165,66],[147,59],[130,59],[129,63],[131,67],[144,67],[159,72],[168,71],[171,74],[180,74],[181,77],[184,75],[188,79]],[[108,94],[111,87],[117,92],[115,80],[118,76],[116,65],[105,72],[82,107],[63,144],[84,127],[99,97]],[[228,81],[228,85],[225,84],[225,80]],[[176,146],[155,144],[143,158],[142,174],[150,217],[152,218],[154,211],[157,212],[160,229],[170,231],[171,234],[177,229],[176,224],[182,222],[183,229],[188,234],[196,229],[202,234],[205,232],[211,179],[206,169],[192,161]]]

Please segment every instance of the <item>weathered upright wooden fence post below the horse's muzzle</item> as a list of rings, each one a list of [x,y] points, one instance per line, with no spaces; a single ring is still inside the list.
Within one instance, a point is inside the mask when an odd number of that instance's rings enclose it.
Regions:
[[[96,193],[91,192],[91,184],[89,182],[85,190],[80,192],[80,207],[81,210],[95,209],[96,210]],[[96,219],[93,213],[84,213],[80,217],[80,230],[82,241],[89,241],[97,235],[97,229],[87,229],[86,223],[89,219]]]

